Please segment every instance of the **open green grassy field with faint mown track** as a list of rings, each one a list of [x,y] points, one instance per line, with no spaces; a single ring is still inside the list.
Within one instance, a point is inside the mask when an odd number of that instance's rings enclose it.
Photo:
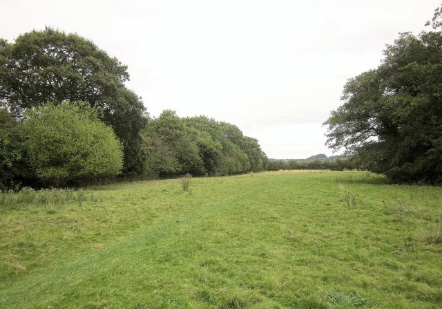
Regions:
[[[442,187],[280,171],[0,196],[0,308],[441,308]]]

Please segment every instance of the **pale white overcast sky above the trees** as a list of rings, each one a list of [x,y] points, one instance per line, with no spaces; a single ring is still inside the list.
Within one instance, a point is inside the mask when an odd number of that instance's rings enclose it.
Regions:
[[[0,37],[77,33],[128,66],[148,113],[236,124],[269,158],[332,156],[323,122],[441,0],[0,0]]]

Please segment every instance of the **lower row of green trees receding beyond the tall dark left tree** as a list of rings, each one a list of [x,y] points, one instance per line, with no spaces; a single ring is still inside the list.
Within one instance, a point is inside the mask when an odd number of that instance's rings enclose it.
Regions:
[[[166,110],[148,123],[145,135],[150,149],[145,169],[153,177],[240,174],[261,171],[267,164],[257,140],[204,116],[179,118]]]

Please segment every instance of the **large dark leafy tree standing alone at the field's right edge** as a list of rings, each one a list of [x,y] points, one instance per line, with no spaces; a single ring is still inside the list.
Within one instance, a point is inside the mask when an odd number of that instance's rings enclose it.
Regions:
[[[329,147],[395,182],[442,182],[441,31],[401,34],[378,68],[349,79],[342,100],[324,123]]]

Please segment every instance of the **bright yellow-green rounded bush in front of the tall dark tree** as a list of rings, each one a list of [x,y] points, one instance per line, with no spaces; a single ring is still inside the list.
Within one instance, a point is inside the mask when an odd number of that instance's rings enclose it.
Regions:
[[[121,144],[87,104],[47,103],[25,115],[19,125],[23,148],[44,184],[81,183],[121,172]]]

